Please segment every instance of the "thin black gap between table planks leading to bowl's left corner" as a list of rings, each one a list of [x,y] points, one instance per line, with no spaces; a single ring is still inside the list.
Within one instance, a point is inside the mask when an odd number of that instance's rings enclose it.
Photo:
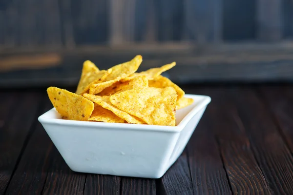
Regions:
[[[37,110],[37,112],[35,114],[35,117],[38,117],[38,116],[40,116],[40,114],[42,114],[42,109],[44,107],[43,102],[44,102],[44,95],[41,95],[41,98],[40,98],[40,101],[39,101],[39,108],[38,108],[38,110]],[[15,167],[14,167],[14,169],[12,171],[12,174],[11,174],[11,176],[9,178],[9,181],[8,181],[8,183],[6,185],[4,194],[6,194],[6,191],[8,189],[8,186],[9,186],[10,182],[11,182],[11,179],[14,176],[14,173],[15,173],[15,171],[16,171],[16,169],[17,169],[17,167],[18,167],[18,165],[19,165],[19,163],[21,161],[22,154],[23,154],[23,152],[24,152],[24,150],[25,150],[25,148],[26,148],[26,146],[28,144],[29,139],[31,138],[31,136],[32,136],[32,134],[33,134],[33,132],[34,132],[34,130],[36,128],[37,123],[38,123],[38,120],[34,120],[32,122],[32,124],[31,124],[31,126],[30,126],[30,130],[28,131],[27,136],[24,139],[24,142],[23,142],[23,145],[22,145],[22,148],[21,148],[21,152],[20,152],[20,154],[19,154],[19,156],[17,158]]]

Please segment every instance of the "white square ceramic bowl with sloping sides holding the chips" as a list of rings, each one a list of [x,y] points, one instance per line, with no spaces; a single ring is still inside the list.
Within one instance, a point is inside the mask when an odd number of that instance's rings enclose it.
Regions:
[[[176,112],[176,126],[61,119],[53,108],[39,117],[72,171],[160,178],[183,152],[210,98],[186,95],[194,103]]]

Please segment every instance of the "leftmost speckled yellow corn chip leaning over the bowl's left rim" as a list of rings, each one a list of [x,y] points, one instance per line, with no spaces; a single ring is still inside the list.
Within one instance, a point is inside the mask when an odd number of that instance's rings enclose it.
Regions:
[[[49,87],[47,93],[63,119],[88,120],[94,110],[93,102],[67,90]]]

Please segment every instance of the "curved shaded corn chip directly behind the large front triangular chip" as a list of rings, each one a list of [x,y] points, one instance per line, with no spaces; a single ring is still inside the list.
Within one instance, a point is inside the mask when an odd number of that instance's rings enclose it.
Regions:
[[[105,88],[99,95],[110,96],[112,94],[116,94],[116,93],[126,91],[129,89],[135,89],[135,88],[147,87],[147,86],[148,86],[148,80],[145,76],[136,77],[136,78],[129,79],[128,81],[125,81],[125,82],[119,81],[113,84],[112,86]]]

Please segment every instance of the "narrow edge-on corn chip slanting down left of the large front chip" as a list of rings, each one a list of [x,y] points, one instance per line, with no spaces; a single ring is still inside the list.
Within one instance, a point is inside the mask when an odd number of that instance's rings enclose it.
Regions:
[[[96,104],[101,105],[103,108],[112,111],[116,116],[126,120],[128,123],[133,123],[133,124],[146,124],[143,120],[131,116],[128,113],[119,110],[117,107],[111,104],[109,97],[108,96],[94,96],[91,94],[84,94],[85,98],[90,99],[91,101],[95,102]]]

